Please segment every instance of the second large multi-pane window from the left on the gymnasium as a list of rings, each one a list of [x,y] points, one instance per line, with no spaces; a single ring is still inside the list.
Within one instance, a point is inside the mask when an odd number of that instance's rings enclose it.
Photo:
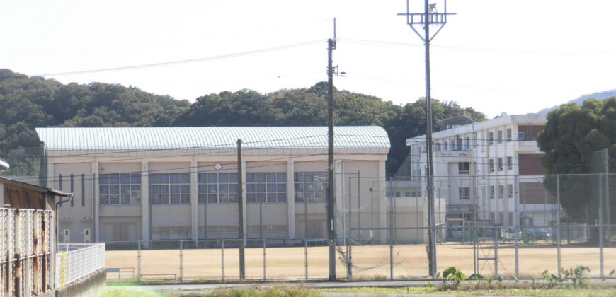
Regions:
[[[150,204],[189,204],[189,173],[153,173],[149,175]]]

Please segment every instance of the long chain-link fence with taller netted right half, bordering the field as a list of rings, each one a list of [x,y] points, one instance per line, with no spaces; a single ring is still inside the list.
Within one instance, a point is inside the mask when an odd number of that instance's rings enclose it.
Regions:
[[[583,265],[592,277],[610,277],[616,269],[614,181],[616,176],[605,174],[436,179],[437,271],[454,266],[467,274],[532,278],[546,269],[558,273]],[[421,180],[358,174],[336,190],[338,279],[429,277],[428,203]],[[106,263],[113,271],[108,279],[237,280],[239,243],[108,242]],[[246,279],[326,279],[326,243],[246,239]]]

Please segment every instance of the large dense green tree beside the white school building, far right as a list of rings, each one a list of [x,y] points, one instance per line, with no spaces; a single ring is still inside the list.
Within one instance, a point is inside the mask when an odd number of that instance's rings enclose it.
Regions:
[[[549,174],[586,174],[605,172],[603,164],[593,165],[595,151],[608,148],[609,170],[615,172],[616,163],[616,97],[603,101],[588,99],[582,105],[561,105],[547,114],[545,129],[537,135],[537,144],[545,152],[542,159]],[[566,217],[572,221],[595,223],[598,218],[597,176],[563,175],[560,178],[561,204]],[[616,178],[610,184],[616,185]],[[556,178],[547,177],[544,185],[556,192]],[[610,194],[610,206],[616,199]],[[614,211],[609,211],[612,221]]]

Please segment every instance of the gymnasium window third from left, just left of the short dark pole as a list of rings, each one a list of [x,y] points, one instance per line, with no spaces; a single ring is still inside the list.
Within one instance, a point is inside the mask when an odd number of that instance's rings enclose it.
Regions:
[[[237,203],[237,173],[199,173],[198,183],[199,203]]]

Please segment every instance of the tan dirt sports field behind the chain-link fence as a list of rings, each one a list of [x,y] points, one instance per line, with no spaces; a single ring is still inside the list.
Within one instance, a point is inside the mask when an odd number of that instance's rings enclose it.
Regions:
[[[493,257],[494,250],[479,250],[480,257]],[[501,276],[515,274],[515,249],[513,245],[498,248],[498,272]],[[520,277],[533,277],[545,269],[557,272],[557,248],[554,246],[520,246],[518,250]],[[107,268],[122,268],[122,277],[137,274],[137,250],[109,250],[106,252]],[[599,248],[561,248],[563,268],[585,265],[591,276],[600,276]],[[426,245],[396,245],[393,249],[394,278],[423,278],[428,274]],[[142,250],[141,267],[143,279],[179,279],[179,250]],[[267,248],[267,279],[304,279],[306,266],[304,248]],[[353,277],[389,278],[389,245],[353,246]],[[220,249],[183,250],[183,279],[222,279],[222,252]],[[307,249],[309,279],[324,279],[328,276],[327,247]],[[604,272],[607,275],[616,269],[616,248],[603,248]],[[224,249],[224,279],[239,279],[237,248]],[[473,272],[472,245],[446,244],[437,246],[438,271],[455,266],[467,274]],[[491,274],[494,262],[482,262],[479,270]],[[336,262],[338,277],[346,278],[346,267]],[[246,248],[246,279],[263,279],[263,249]],[[117,273],[109,273],[112,280]]]

